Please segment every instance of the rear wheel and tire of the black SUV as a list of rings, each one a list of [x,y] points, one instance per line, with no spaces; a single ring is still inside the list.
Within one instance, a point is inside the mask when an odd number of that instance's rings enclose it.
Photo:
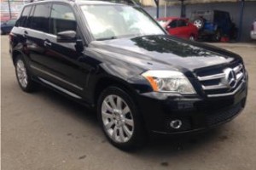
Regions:
[[[38,89],[38,83],[32,81],[31,73],[28,71],[26,62],[21,55],[15,59],[15,73],[20,88],[24,92],[31,93]]]

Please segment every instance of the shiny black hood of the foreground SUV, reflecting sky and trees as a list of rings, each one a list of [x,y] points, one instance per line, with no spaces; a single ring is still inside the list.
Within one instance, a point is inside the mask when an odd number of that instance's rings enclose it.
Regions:
[[[95,41],[90,43],[90,47],[108,54],[110,59],[119,59],[145,70],[168,70],[172,67],[195,71],[241,59],[224,49],[167,35]]]

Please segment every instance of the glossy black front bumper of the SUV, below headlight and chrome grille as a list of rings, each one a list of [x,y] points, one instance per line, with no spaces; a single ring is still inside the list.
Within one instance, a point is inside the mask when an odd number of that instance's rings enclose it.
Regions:
[[[138,103],[149,133],[191,133],[229,122],[245,107],[247,82],[234,95],[218,98],[184,97],[179,94],[140,94]],[[180,120],[175,129],[171,121]]]

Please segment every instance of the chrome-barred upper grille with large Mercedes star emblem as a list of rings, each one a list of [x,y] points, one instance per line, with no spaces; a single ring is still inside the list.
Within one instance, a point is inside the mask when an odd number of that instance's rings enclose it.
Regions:
[[[197,74],[207,97],[220,97],[236,94],[246,80],[246,71],[241,63],[225,68],[215,68]]]

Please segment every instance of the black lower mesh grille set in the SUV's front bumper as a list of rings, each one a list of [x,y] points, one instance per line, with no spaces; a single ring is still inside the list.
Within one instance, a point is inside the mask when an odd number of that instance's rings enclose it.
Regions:
[[[241,103],[233,106],[230,110],[219,111],[216,113],[209,114],[207,116],[207,125],[212,126],[220,122],[228,121],[233,116],[236,116],[242,109]]]

